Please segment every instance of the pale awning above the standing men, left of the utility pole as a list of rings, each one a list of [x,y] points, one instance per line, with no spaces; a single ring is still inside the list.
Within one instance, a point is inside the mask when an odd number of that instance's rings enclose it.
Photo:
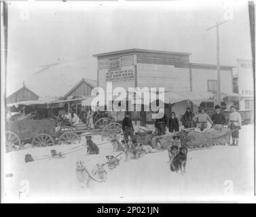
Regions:
[[[215,94],[211,92],[165,92],[164,103],[172,104],[183,100],[189,100],[199,106],[202,101],[211,100],[214,96]]]

